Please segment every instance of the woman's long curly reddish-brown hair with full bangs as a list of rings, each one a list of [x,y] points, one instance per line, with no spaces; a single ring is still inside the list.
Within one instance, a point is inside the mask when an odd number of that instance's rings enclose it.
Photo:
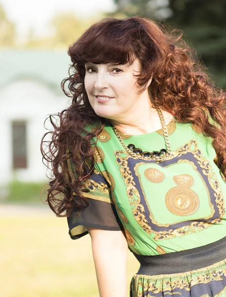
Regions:
[[[52,173],[47,201],[57,216],[69,216],[73,208],[80,213],[89,205],[82,195],[88,192],[84,183],[94,170],[92,147],[105,127],[105,119],[95,114],[85,90],[87,61],[132,64],[138,58],[141,72],[137,84],[145,90],[152,78],[148,91],[153,106],[168,111],[178,122],[195,123],[204,136],[212,137],[215,162],[226,178],[226,94],[214,86],[194,49],[181,36],[180,31],[168,33],[162,25],[139,16],[105,18],[69,46],[72,63],[61,88],[72,102],[46,119],[53,130],[44,134],[41,142],[43,162],[47,161]],[[210,117],[217,125],[210,123]],[[87,125],[93,124],[96,131],[88,132]],[[51,140],[45,141],[48,134]],[[75,168],[73,179],[67,166],[69,157]]]

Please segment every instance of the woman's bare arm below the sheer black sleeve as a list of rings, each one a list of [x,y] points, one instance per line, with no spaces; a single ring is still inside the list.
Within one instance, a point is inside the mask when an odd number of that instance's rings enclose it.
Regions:
[[[122,231],[87,227],[100,297],[126,297],[127,242]]]

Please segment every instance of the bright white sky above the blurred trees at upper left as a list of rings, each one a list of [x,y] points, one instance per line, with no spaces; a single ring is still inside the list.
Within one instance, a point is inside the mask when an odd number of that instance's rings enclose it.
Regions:
[[[35,36],[48,36],[48,21],[57,12],[74,12],[79,17],[113,11],[113,0],[0,0],[7,17],[16,24],[18,39],[26,39],[31,27]]]

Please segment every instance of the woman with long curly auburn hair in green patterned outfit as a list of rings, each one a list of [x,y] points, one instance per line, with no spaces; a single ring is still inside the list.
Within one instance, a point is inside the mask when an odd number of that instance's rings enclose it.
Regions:
[[[90,234],[101,297],[126,296],[127,247],[131,297],[226,296],[226,95],[179,40],[107,18],[68,50],[47,199]]]

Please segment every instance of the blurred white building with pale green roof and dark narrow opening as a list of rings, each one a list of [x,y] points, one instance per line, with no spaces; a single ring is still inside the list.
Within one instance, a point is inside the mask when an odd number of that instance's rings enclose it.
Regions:
[[[44,121],[68,106],[60,82],[69,63],[66,50],[0,50],[1,193],[13,179],[46,181],[40,152],[48,132]]]

